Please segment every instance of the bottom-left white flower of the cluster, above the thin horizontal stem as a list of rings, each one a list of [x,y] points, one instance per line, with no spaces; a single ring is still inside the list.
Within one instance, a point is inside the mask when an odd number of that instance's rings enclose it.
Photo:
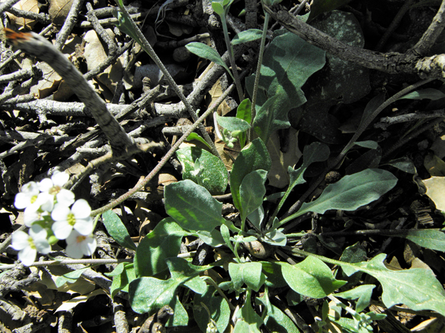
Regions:
[[[40,225],[33,225],[29,229],[29,234],[15,231],[11,248],[19,251],[19,259],[25,266],[30,266],[35,261],[37,251],[46,255],[51,250],[47,241],[47,230]]]

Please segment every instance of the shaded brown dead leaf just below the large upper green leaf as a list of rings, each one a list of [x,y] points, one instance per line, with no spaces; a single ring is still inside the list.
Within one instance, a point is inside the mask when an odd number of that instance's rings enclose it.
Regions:
[[[294,128],[290,128],[289,151],[287,151],[287,153],[282,153],[282,151],[280,151],[280,137],[278,137],[277,132],[270,135],[270,139],[267,143],[267,150],[270,154],[270,159],[272,160],[272,167],[267,176],[269,185],[281,189],[282,187],[289,185],[288,167],[293,167],[302,156],[300,149],[298,149],[298,131]]]

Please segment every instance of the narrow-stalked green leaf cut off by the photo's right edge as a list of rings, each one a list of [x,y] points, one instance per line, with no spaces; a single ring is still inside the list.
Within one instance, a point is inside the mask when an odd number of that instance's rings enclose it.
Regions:
[[[382,234],[385,234],[385,230],[382,230]],[[423,248],[430,248],[431,250],[442,252],[445,251],[445,234],[439,230],[410,229],[400,234],[388,233],[387,235],[389,237],[403,237],[409,239]]]

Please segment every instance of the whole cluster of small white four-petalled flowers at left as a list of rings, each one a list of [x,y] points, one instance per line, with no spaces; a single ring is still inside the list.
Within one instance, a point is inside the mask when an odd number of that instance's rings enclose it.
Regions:
[[[59,239],[66,240],[66,253],[72,258],[95,252],[91,207],[83,199],[74,202],[74,193],[63,189],[69,179],[67,173],[56,171],[51,179],[23,185],[15,196],[14,205],[24,209],[24,224],[29,232],[13,232],[11,247],[19,251],[19,259],[25,266],[35,261],[37,252],[49,253],[51,244]]]

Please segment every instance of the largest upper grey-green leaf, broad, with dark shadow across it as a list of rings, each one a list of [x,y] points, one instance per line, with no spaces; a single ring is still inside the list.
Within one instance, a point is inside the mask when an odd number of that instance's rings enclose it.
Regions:
[[[261,129],[260,137],[264,142],[268,141],[270,133],[290,126],[289,110],[306,102],[302,85],[324,65],[325,51],[293,33],[284,33],[270,43],[261,65],[257,117],[254,119],[255,131]],[[245,83],[252,96],[254,75],[246,78]],[[264,105],[270,97],[275,101]]]

